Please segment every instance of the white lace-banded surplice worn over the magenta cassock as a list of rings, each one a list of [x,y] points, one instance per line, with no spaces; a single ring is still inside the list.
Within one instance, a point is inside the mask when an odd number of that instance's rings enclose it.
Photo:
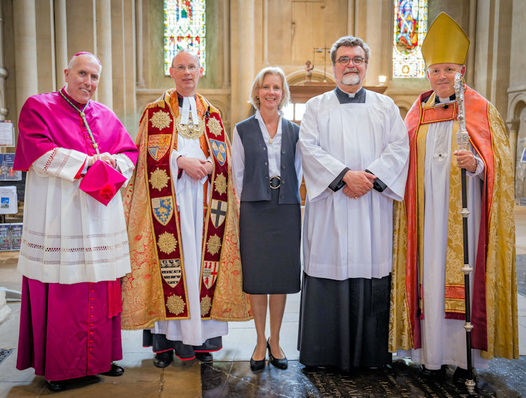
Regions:
[[[127,179],[133,163],[114,155]],[[130,272],[128,233],[120,193],[107,206],[79,189],[86,154],[55,148],[27,172],[18,271],[47,283],[116,280]],[[127,182],[127,181],[126,181]]]

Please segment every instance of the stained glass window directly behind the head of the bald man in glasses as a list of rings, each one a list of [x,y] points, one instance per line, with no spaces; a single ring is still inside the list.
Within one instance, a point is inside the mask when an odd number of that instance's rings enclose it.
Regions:
[[[194,51],[206,71],[205,0],[164,0],[164,73],[177,51]]]

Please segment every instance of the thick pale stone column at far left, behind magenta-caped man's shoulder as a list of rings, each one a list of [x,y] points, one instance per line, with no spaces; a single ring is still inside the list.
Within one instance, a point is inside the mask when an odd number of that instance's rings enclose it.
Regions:
[[[36,11],[35,0],[13,1],[13,30],[15,40],[16,115],[28,97],[39,92],[35,71],[36,60]]]

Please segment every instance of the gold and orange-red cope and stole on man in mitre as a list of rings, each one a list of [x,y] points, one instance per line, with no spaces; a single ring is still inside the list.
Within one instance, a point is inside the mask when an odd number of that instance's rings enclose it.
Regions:
[[[431,96],[430,96],[431,95]],[[427,99],[422,105],[422,99]],[[470,142],[485,163],[483,203],[474,278],[472,343],[481,355],[518,358],[517,286],[513,170],[508,137],[497,110],[466,87],[466,128]],[[405,200],[393,210],[393,273],[389,350],[421,348],[422,242],[424,229],[424,159],[429,123],[457,118],[453,104],[433,109],[434,94],[425,92],[405,118],[410,135],[410,170]],[[454,123],[454,132],[458,123]],[[453,134],[454,134],[453,132]],[[453,138],[453,146],[454,138]],[[450,175],[446,254],[445,317],[464,319],[464,277],[461,245],[460,172],[453,161]],[[424,314],[422,314],[424,308]],[[425,317],[425,315],[424,315]]]

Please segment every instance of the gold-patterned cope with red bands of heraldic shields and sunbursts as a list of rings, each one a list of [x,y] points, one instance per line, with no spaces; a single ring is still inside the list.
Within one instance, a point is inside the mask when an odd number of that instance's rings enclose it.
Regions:
[[[242,290],[238,240],[238,200],[231,178],[230,143],[220,113],[204,97],[196,98],[204,123],[201,149],[213,158],[203,203],[201,320],[251,319]],[[147,329],[160,320],[189,319],[177,198],[170,154],[177,148],[179,107],[175,89],[149,104],[135,144],[139,160],[124,195],[132,272],[122,279],[122,329]]]

